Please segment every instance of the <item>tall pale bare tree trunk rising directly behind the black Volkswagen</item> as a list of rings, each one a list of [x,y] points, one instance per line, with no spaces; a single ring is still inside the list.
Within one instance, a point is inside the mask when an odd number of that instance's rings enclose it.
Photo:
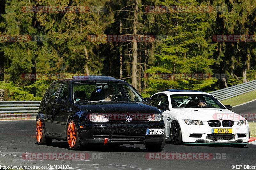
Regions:
[[[135,0],[135,9],[134,9],[134,19],[133,19],[133,36],[134,41],[132,45],[132,85],[135,89],[137,89],[137,50],[138,44],[135,39],[137,35],[137,24],[138,24],[138,0]]]

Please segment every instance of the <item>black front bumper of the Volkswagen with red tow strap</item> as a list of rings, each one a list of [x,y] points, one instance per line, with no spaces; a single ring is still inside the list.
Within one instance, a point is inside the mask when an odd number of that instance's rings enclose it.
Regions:
[[[146,135],[147,129],[164,129],[163,122],[98,124],[80,128],[80,143],[85,144],[160,144],[164,135]]]

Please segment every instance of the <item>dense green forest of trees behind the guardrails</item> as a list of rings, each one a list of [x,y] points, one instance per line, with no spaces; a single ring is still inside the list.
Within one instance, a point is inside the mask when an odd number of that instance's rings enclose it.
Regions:
[[[31,12],[29,6],[76,6],[86,12]],[[175,6],[212,8],[166,11]],[[255,28],[256,0],[0,0],[0,100],[41,100],[53,80],[24,80],[24,73],[113,76],[143,97],[171,88],[211,92],[240,84],[256,79],[256,38],[223,42],[213,37],[254,35]],[[6,42],[6,35],[43,41]],[[92,35],[154,36],[152,41],[93,41]],[[145,76],[153,73],[225,76]]]

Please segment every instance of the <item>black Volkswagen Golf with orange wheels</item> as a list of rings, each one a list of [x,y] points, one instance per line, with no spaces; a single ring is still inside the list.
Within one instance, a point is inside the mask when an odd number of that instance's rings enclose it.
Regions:
[[[147,102],[146,102],[147,101]],[[38,144],[66,140],[81,145],[144,144],[150,152],[164,148],[163,116],[132,85],[108,76],[73,76],[52,82],[36,116]]]

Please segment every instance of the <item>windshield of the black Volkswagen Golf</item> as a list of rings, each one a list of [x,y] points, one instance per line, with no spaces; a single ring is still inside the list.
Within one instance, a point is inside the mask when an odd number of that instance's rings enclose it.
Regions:
[[[74,102],[143,101],[139,93],[125,83],[73,83],[73,100]]]

